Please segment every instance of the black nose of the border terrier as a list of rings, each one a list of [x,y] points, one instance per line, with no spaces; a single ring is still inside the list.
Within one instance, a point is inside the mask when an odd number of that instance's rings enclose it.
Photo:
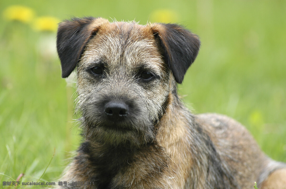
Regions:
[[[124,118],[128,113],[128,106],[123,102],[107,102],[104,112],[110,119]]]

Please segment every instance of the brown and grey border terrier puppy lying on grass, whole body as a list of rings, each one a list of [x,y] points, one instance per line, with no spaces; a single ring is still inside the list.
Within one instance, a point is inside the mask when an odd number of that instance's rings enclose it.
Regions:
[[[194,115],[180,101],[176,85],[199,47],[198,36],[175,24],[59,24],[62,77],[77,70],[85,138],[59,188],[286,187],[286,165],[261,152],[241,124]]]

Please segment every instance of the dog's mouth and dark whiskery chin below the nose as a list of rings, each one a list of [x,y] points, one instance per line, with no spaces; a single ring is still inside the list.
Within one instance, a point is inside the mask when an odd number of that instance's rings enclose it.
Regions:
[[[140,148],[154,140],[153,126],[132,126],[125,122],[106,121],[84,129],[86,138],[111,147]]]

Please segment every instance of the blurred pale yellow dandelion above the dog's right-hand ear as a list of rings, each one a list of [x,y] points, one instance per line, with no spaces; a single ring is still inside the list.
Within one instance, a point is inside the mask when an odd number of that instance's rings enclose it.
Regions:
[[[150,14],[150,22],[175,23],[178,15],[170,9],[158,9]]]

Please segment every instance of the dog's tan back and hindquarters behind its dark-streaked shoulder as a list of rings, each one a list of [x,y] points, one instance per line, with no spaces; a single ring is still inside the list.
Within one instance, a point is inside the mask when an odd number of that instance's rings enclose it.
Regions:
[[[198,114],[195,120],[206,130],[222,164],[227,165],[241,188],[249,188],[254,182],[258,187],[269,188],[267,178],[272,173],[275,178],[271,179],[277,180],[271,181],[274,185],[272,183],[270,188],[277,188],[275,184],[286,188],[286,181],[281,180],[286,179],[286,164],[267,157],[239,122],[219,114]]]

